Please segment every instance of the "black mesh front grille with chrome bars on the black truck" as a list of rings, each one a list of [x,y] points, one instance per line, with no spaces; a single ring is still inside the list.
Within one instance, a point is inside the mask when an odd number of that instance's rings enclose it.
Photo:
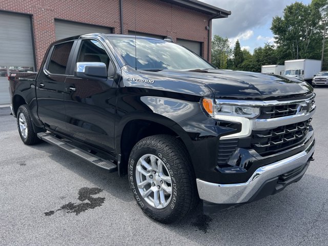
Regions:
[[[238,148],[254,150],[264,157],[302,146],[312,136],[311,120],[316,111],[314,98],[315,94],[284,101],[220,100],[222,104],[259,108],[260,114],[249,119],[231,117],[232,121],[240,122],[240,134],[220,137],[218,167],[228,165]],[[229,117],[223,120],[229,121]],[[229,146],[233,148],[224,148],[228,144],[225,141],[236,141],[237,144]]]

